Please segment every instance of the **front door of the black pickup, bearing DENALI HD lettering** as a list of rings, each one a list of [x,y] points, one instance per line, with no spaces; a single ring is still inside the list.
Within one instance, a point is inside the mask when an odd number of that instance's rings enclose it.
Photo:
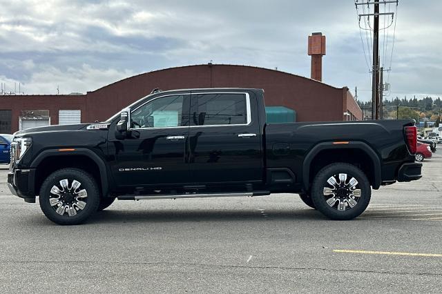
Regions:
[[[111,169],[117,186],[186,184],[190,93],[155,97],[131,109],[133,133],[139,138],[109,136]]]

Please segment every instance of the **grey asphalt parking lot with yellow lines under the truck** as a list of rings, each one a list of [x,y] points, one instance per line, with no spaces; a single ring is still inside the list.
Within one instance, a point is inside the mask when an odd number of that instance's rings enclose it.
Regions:
[[[439,153],[441,151],[439,150]],[[6,167],[4,167],[6,168]],[[10,195],[0,292],[425,292],[442,288],[442,156],[336,222],[298,195],[116,202],[81,226]]]

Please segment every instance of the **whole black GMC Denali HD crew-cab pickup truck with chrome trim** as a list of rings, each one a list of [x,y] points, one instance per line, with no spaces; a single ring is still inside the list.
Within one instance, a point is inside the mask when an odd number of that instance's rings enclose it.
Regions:
[[[117,198],[297,193],[331,219],[421,178],[414,120],[266,124],[264,91],[156,90],[107,121],[15,133],[8,186],[57,224]],[[273,196],[271,196],[273,197]]]

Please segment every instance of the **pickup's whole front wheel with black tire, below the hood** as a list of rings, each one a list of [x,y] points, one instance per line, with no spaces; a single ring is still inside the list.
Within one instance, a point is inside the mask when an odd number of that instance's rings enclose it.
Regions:
[[[79,184],[74,184],[74,181]],[[55,192],[51,192],[52,189]],[[63,168],[44,180],[39,202],[44,215],[52,222],[61,225],[81,224],[97,211],[99,190],[95,179],[84,170]]]

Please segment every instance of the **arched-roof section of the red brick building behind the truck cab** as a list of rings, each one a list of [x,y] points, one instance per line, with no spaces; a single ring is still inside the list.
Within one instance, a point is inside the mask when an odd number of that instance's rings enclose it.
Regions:
[[[109,109],[117,112],[154,88],[262,88],[266,105],[296,110],[300,121],[342,120],[343,112],[349,109],[344,104],[354,101],[347,97],[347,88],[335,88],[288,72],[209,63],[146,72],[88,92],[86,103],[88,109],[91,106],[94,111],[92,114],[88,110],[87,117],[89,120],[106,119],[110,116]],[[316,111],[322,107],[324,113]]]

